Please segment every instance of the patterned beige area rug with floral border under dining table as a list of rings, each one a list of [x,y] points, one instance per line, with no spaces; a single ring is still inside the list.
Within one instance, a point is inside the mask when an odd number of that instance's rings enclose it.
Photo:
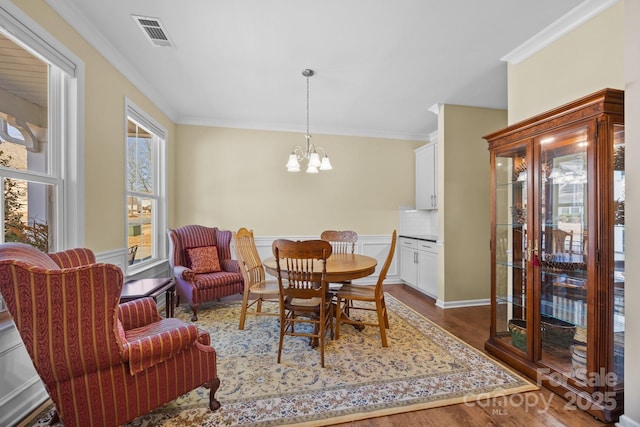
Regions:
[[[218,353],[222,407],[210,412],[209,392],[201,387],[129,425],[319,426],[537,389],[390,295],[386,299],[389,347],[381,346],[377,328],[359,332],[343,325],[339,340],[327,340],[324,369],[319,351],[303,337],[285,337],[282,363],[276,363],[277,317],[248,316],[240,331],[239,303],[201,305],[198,326],[211,333]],[[190,316],[176,310],[176,317]],[[34,425],[45,425],[49,413]]]

